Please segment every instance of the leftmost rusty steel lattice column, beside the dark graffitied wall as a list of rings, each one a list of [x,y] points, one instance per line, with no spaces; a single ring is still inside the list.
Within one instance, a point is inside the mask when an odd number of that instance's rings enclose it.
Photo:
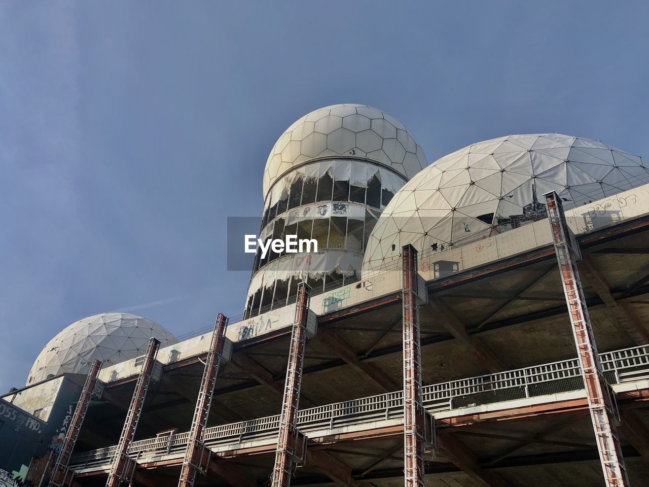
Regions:
[[[72,415],[70,427],[66,434],[66,440],[63,442],[63,447],[58,454],[58,458],[56,458],[56,463],[54,464],[52,475],[49,479],[50,487],[61,487],[65,484],[69,484],[71,481],[71,478],[67,479],[69,473],[67,464],[70,461],[70,456],[72,456],[72,451],[75,448],[75,443],[77,443],[77,438],[79,438],[79,432],[81,431],[83,420],[86,418],[88,404],[90,403],[90,397],[92,397],[93,390],[95,390],[95,384],[97,384],[99,370],[101,370],[101,362],[95,358],[92,362],[92,366],[90,366],[90,372],[88,373],[88,377],[86,377],[86,383],[84,384],[81,395],[79,396],[75,412]]]

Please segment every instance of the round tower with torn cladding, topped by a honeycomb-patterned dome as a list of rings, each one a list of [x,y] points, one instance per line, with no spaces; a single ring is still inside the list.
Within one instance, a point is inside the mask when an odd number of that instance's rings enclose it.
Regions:
[[[395,193],[426,166],[414,136],[393,116],[345,103],[306,114],[278,138],[263,171],[263,240],[297,235],[317,253],[258,251],[245,317],[360,277],[363,251]]]

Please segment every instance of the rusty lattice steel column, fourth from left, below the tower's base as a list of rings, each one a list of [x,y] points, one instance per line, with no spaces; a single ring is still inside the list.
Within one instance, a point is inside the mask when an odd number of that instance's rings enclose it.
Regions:
[[[280,416],[279,435],[275,453],[272,487],[288,487],[291,484],[291,468],[296,456],[299,431],[297,430],[297,408],[302,385],[302,365],[306,348],[306,320],[309,313],[309,288],[305,282],[297,287],[295,323],[291,333],[291,349],[284,383],[284,402]]]

